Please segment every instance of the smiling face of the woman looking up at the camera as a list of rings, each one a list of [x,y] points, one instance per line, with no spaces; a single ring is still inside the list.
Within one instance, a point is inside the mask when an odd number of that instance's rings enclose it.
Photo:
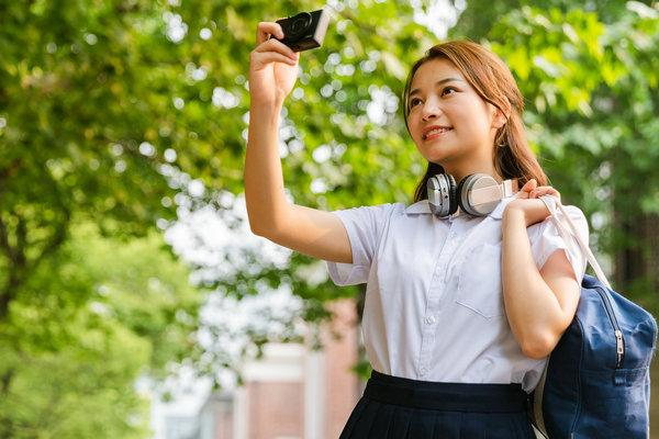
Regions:
[[[493,169],[494,136],[505,119],[483,101],[446,59],[424,63],[414,75],[407,125],[420,153],[457,178]]]

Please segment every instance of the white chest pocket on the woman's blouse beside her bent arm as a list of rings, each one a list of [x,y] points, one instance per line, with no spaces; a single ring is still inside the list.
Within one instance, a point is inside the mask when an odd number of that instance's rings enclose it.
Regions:
[[[485,318],[505,315],[501,244],[483,244],[469,251],[459,270],[456,302]]]

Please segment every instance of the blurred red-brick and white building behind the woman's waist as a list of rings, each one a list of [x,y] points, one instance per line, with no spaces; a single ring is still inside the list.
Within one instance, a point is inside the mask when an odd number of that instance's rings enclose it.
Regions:
[[[322,330],[322,350],[267,345],[260,360],[246,364],[243,387],[211,394],[196,438],[338,438],[362,383],[350,371],[359,350],[355,304],[339,301],[333,311],[336,318]]]

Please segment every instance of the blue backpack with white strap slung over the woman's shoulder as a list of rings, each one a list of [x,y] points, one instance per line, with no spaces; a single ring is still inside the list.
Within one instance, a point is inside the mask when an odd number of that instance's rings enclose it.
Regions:
[[[543,201],[566,243],[570,235],[576,238],[600,280],[584,277],[574,319],[551,352],[535,390],[536,427],[549,439],[647,439],[649,365],[657,323],[611,290],[562,206]],[[568,235],[556,206],[572,234]]]

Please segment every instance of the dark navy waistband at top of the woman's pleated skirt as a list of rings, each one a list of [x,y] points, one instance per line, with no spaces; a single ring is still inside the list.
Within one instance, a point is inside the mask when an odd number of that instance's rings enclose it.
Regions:
[[[372,371],[364,396],[386,404],[448,412],[526,412],[521,384],[463,384],[417,381]]]

